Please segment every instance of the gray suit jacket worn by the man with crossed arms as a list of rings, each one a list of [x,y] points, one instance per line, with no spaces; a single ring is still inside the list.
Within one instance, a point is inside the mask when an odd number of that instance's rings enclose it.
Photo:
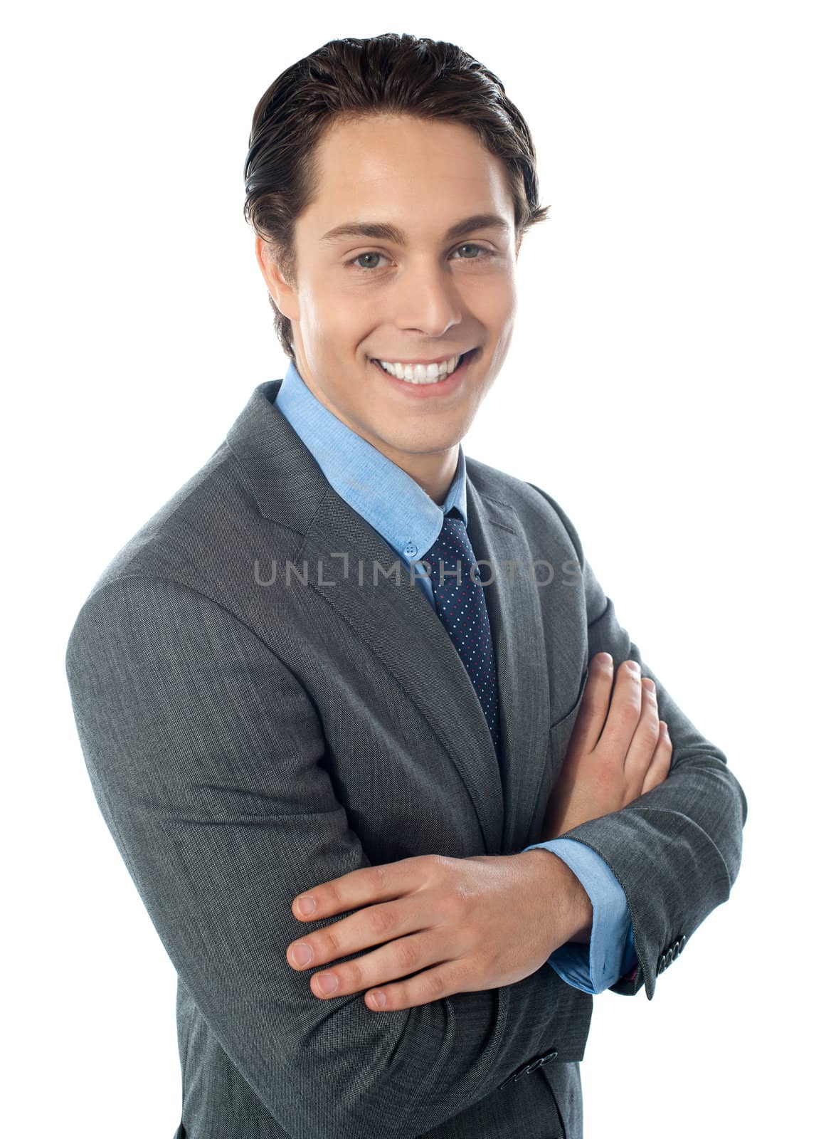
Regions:
[[[319,1000],[286,961],[306,928],[290,903],[359,867],[540,841],[589,659],[640,661],[637,647],[562,509],[466,456],[468,532],[494,564],[501,770],[441,620],[273,407],[279,383],[255,388],[113,559],[66,654],[97,801],[179,977],[176,1136],[581,1139],[591,995],[545,964],[396,1013],[371,1013],[363,993]],[[640,965],[611,991],[651,1000],[730,894],[747,803],[641,664],[672,770],[568,836],[630,904]]]

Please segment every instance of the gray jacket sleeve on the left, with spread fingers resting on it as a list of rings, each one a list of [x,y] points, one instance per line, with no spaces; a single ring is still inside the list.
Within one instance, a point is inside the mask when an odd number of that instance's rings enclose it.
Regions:
[[[591,999],[548,965],[392,1013],[363,992],[320,1000],[288,965],[289,942],[334,920],[301,924],[291,900],[370,863],[314,702],[237,616],[165,577],[116,577],[84,603],[66,671],[97,802],[164,948],[295,1139],[410,1139],[529,1062],[583,1058]]]

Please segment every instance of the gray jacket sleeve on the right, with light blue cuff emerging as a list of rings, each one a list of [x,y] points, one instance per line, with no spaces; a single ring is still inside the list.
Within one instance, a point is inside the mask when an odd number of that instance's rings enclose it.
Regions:
[[[533,483],[528,485],[534,486]],[[611,654],[615,669],[637,661],[656,685],[658,714],[673,741],[672,767],[663,784],[620,811],[591,819],[563,833],[591,846],[610,867],[626,894],[637,970],[611,992],[633,995],[656,978],[684,949],[708,913],[730,896],[741,863],[747,798],[722,751],[698,731],[619,624],[585,558],[575,527],[562,508],[538,486],[557,511],[575,549],[582,573],[589,658]]]

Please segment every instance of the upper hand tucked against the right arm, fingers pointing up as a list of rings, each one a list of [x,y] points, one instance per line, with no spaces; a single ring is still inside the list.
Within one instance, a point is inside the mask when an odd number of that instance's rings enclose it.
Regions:
[[[655,682],[641,678],[636,661],[624,661],[612,694],[611,665],[608,653],[592,657],[538,842],[619,811],[657,787],[669,772],[673,745],[669,729],[658,720]]]

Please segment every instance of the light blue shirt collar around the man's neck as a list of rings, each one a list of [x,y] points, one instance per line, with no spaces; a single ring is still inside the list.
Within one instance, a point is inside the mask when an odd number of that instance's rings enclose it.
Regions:
[[[461,444],[453,482],[442,506],[406,472],[378,451],[306,386],[294,361],[274,407],[312,452],[337,493],[406,562],[425,556],[438,538],[444,516],[455,507],[468,524],[466,464]]]

